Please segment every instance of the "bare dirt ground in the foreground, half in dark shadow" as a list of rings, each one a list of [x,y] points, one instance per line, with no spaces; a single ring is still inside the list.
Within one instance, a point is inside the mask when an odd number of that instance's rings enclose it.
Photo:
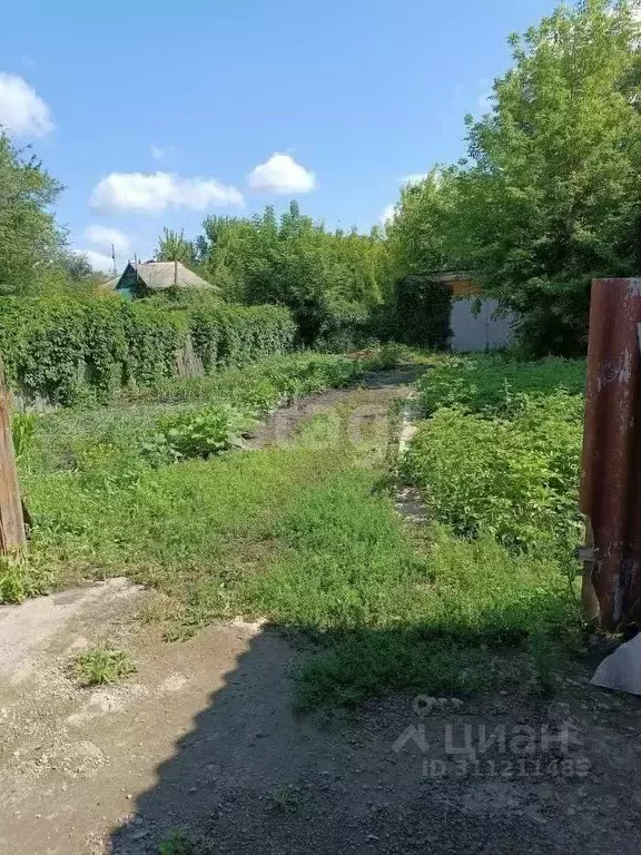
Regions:
[[[641,700],[591,688],[591,666],[553,701],[303,717],[307,651],[241,622],[166,643],[137,619],[149,596],[116,579],[0,607],[2,855],[151,855],[175,828],[197,855],[639,852]],[[138,672],[79,688],[70,658],[100,633]]]

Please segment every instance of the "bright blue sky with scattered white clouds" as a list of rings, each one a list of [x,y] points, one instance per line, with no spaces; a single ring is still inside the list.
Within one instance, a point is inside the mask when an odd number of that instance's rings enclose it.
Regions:
[[[368,229],[404,176],[463,154],[553,0],[11,3],[0,124],[66,186],[58,218],[96,265],[152,253],[164,225],[293,197]],[[276,156],[276,157],[274,157]]]

